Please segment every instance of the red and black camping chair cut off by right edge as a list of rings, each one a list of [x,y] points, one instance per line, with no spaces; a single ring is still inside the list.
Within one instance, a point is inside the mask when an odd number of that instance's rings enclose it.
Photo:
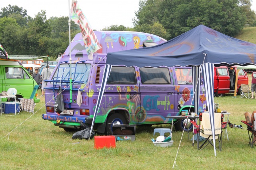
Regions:
[[[248,131],[248,136],[249,136],[249,144],[251,148],[256,146],[254,145],[254,142],[256,141],[256,121],[255,121],[256,113],[253,114],[252,119],[253,122],[248,122],[248,121],[241,121],[247,126],[247,131]],[[252,132],[252,134],[250,134]]]

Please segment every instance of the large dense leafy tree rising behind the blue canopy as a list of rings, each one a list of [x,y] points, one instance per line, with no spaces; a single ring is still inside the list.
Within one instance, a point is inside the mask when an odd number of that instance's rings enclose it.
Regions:
[[[166,29],[168,38],[174,38],[200,24],[235,36],[246,22],[252,23],[254,20],[255,13],[250,9],[249,2],[250,0],[140,0],[133,23],[135,28],[146,28],[145,24],[150,26],[159,22]]]

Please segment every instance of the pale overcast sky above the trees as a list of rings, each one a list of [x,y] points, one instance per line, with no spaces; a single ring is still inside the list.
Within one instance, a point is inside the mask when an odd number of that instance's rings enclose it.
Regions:
[[[72,0],[1,0],[0,8],[8,4],[27,10],[32,18],[41,10],[46,17],[68,16]],[[70,8],[68,2],[70,1]],[[102,30],[111,25],[133,27],[132,18],[139,9],[139,0],[78,0],[78,4],[89,21],[92,29]],[[256,12],[256,0],[252,0],[252,9]]]

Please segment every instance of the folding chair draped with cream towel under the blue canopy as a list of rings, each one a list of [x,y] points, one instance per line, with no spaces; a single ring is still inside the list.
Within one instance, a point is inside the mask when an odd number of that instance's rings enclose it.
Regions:
[[[215,139],[218,139],[220,151],[222,150],[222,129],[225,129],[226,125],[227,125],[226,122],[223,122],[223,118],[224,118],[223,114],[216,113],[214,115]],[[196,128],[196,131],[197,131],[197,149],[202,150],[208,144],[211,144],[213,146],[212,130],[211,130],[211,127],[207,127],[208,125],[210,126],[209,113],[199,113],[199,125],[197,125],[195,121],[190,121],[190,122]],[[209,129],[208,131],[206,130],[206,127],[207,127],[207,129]],[[199,146],[199,137],[200,136],[206,138],[206,140],[204,141],[204,143],[201,146]]]

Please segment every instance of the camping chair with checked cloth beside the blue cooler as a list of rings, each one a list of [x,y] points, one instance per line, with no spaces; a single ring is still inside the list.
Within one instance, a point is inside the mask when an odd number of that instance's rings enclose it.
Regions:
[[[39,85],[35,85],[32,93],[31,93],[30,99],[23,99],[23,98],[20,99],[20,106],[21,106],[20,111],[27,111],[29,113],[30,112],[34,113],[35,102],[34,102],[33,98],[36,94],[38,87],[39,87]],[[20,111],[19,111],[19,113],[20,113]]]

